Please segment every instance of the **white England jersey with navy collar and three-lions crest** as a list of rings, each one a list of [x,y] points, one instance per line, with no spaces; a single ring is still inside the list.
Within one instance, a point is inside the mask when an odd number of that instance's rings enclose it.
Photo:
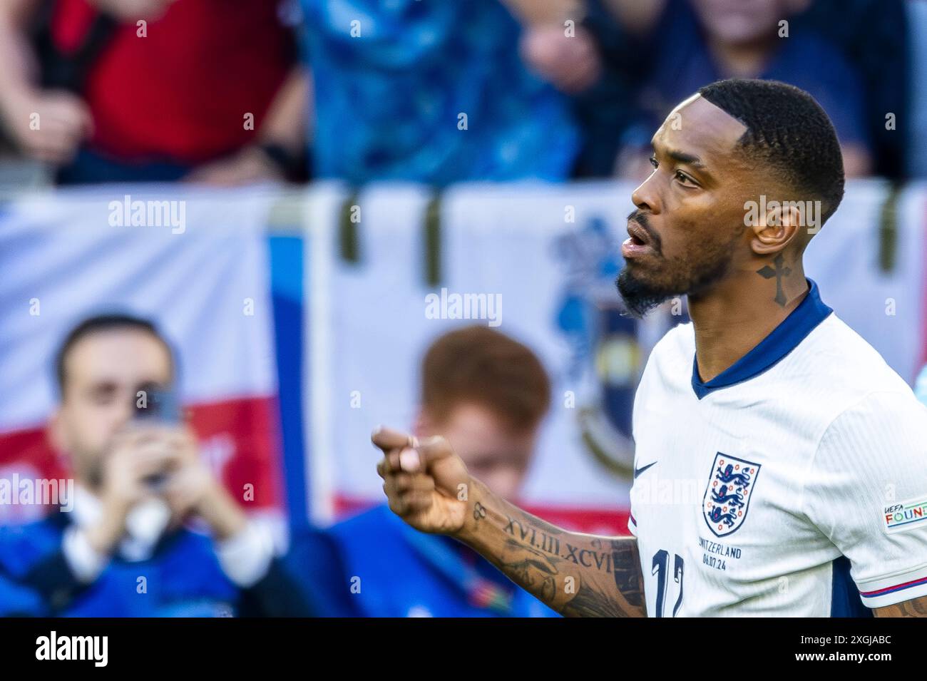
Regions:
[[[691,323],[647,361],[629,530],[651,616],[859,615],[927,595],[927,407],[809,285],[707,383]]]

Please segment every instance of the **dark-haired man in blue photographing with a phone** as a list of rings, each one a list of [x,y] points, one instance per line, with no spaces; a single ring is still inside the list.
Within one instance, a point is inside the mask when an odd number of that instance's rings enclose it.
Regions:
[[[140,319],[95,317],[68,335],[49,436],[70,460],[72,508],[0,531],[0,614],[310,612],[270,529],[200,459],[171,399],[175,366]],[[184,524],[194,517],[211,538]]]

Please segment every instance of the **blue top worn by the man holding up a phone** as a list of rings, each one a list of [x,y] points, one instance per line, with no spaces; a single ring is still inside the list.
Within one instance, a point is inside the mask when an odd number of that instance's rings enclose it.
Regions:
[[[248,589],[222,572],[212,540],[178,529],[145,561],[114,556],[90,585],[79,583],[61,543],[68,514],[0,527],[0,616],[230,617],[314,614],[281,561]]]

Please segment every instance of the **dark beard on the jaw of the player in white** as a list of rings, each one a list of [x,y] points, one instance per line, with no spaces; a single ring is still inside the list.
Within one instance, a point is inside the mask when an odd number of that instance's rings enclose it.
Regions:
[[[629,314],[641,319],[647,312],[676,296],[704,294],[730,271],[736,243],[735,237],[728,243],[705,244],[694,256],[675,259],[664,257],[658,243],[645,264],[627,262],[615,284]]]

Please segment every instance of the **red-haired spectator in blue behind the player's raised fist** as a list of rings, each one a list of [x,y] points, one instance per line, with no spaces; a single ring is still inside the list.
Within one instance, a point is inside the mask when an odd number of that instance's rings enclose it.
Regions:
[[[547,373],[527,347],[466,327],[425,353],[414,433],[445,435],[471,473],[514,499],[550,400]],[[340,594],[349,593],[363,616],[556,616],[472,549],[413,530],[386,505],[338,523],[330,536],[347,570]],[[307,561],[298,551],[291,558],[297,566]]]

